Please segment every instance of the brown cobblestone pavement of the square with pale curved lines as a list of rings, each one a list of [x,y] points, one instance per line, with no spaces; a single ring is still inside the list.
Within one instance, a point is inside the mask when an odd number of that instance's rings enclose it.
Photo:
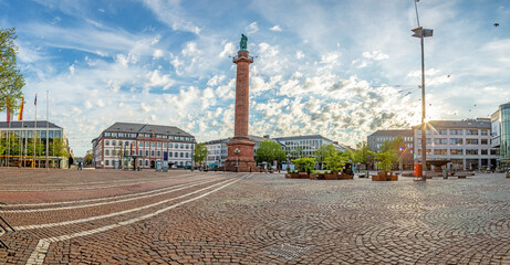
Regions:
[[[0,169],[0,264],[510,264],[510,179]]]

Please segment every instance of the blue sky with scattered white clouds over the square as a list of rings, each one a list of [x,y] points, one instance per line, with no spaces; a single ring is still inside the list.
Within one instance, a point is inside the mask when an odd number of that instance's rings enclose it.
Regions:
[[[510,100],[510,1],[417,7],[434,29],[426,118],[489,118]],[[38,119],[48,105],[75,156],[115,121],[177,126],[199,142],[233,136],[241,33],[254,57],[250,135],[354,147],[421,118],[414,0],[0,0],[0,28],[17,30],[24,118],[38,94]]]

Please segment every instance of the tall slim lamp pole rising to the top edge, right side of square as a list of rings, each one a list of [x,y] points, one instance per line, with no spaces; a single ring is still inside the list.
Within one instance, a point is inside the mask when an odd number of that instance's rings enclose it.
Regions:
[[[415,34],[413,36],[420,39],[421,44],[421,180],[426,181],[425,169],[427,167],[427,136],[426,136],[426,126],[425,126],[425,59],[424,59],[424,38],[433,36],[434,30],[424,29],[419,25],[418,17],[418,6],[416,4],[418,0],[415,0],[416,9],[416,20],[418,22],[418,28],[412,30]]]

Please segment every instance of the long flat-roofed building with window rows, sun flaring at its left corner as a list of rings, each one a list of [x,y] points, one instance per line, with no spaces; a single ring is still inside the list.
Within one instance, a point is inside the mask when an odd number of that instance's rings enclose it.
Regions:
[[[449,160],[448,168],[480,169],[496,167],[499,150],[491,147],[491,120],[428,121],[426,153],[429,160]],[[421,127],[413,126],[415,158],[421,159]]]

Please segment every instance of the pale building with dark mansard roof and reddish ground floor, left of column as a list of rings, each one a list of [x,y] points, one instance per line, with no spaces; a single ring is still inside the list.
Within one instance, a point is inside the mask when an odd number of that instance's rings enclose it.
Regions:
[[[169,168],[191,167],[195,137],[177,127],[115,123],[92,140],[95,168],[162,168],[167,153]]]

